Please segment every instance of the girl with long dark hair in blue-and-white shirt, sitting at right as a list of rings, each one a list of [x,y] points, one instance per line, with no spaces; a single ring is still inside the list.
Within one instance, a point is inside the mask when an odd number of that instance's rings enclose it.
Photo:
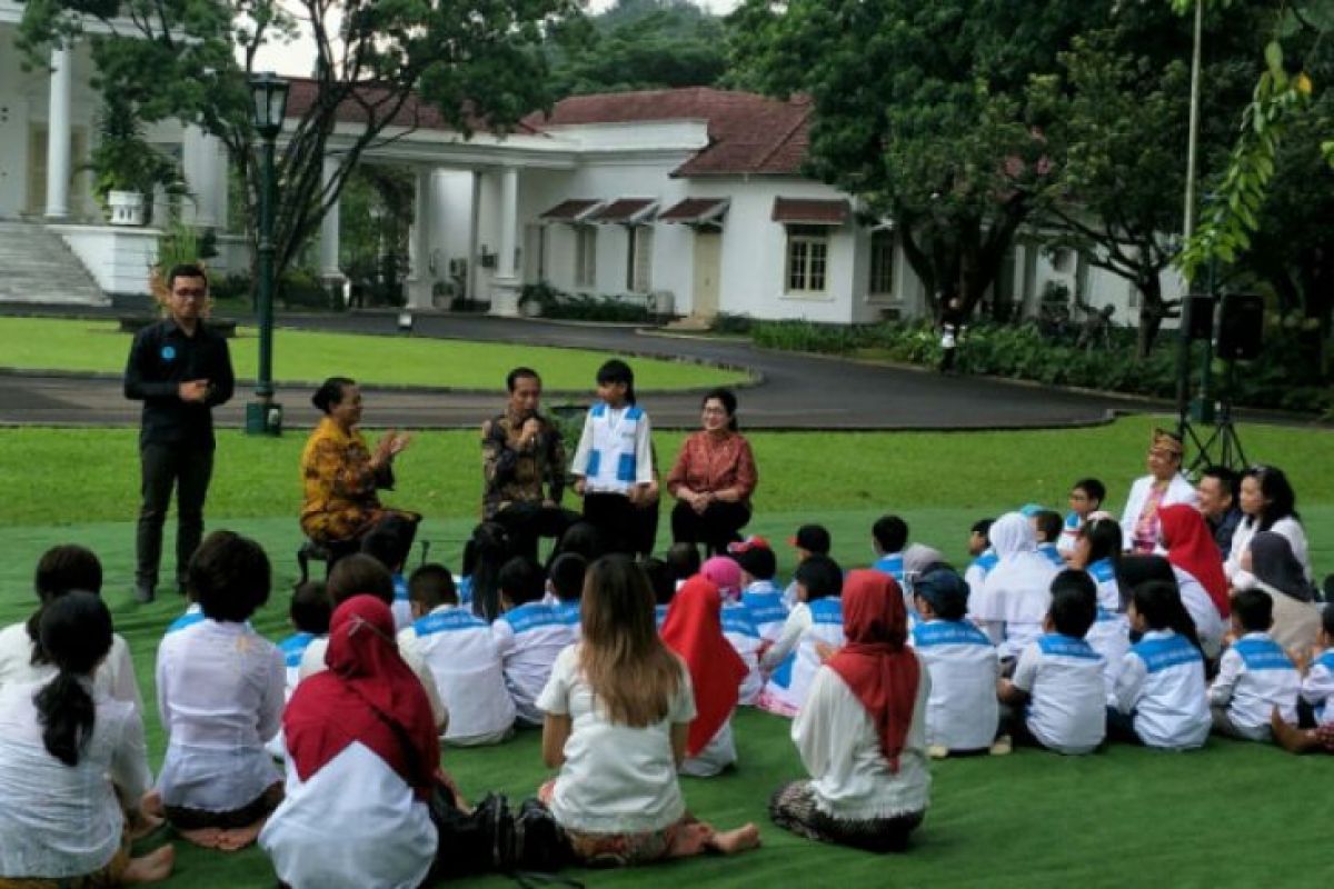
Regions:
[[[1139,641],[1123,657],[1109,728],[1145,746],[1203,746],[1211,724],[1205,654],[1181,593],[1162,581],[1141,584],[1131,590],[1127,616]]]

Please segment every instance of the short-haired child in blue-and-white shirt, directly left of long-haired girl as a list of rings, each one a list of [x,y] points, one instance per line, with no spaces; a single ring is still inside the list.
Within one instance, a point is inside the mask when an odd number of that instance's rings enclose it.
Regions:
[[[1093,753],[1102,744],[1107,732],[1102,656],[1083,638],[1097,610],[1089,589],[1051,592],[1042,636],[1019,653],[1014,677],[996,682],[1000,702],[1014,708],[1002,717],[1011,740],[1031,740],[1070,756]]]

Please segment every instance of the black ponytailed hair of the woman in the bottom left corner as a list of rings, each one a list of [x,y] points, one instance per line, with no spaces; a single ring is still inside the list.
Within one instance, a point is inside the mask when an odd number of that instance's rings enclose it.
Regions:
[[[57,670],[33,697],[41,744],[65,765],[79,765],[97,718],[84,682],[111,650],[111,612],[96,594],[71,592],[41,610],[39,632]]]

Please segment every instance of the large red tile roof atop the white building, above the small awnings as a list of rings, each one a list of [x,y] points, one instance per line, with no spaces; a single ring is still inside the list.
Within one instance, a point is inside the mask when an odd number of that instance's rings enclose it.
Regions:
[[[574,127],[660,120],[708,121],[708,145],[674,176],[799,175],[808,144],[811,101],[787,101],[708,87],[572,96],[551,115],[534,113],[524,124]]]

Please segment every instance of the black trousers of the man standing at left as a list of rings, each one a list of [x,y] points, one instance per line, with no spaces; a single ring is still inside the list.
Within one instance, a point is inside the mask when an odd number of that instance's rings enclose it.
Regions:
[[[163,522],[176,489],[176,582],[185,582],[185,566],[204,536],[204,498],[213,476],[212,446],[147,443],[139,446],[141,472],[139,528],[135,537],[135,585],[157,586],[163,552]]]

